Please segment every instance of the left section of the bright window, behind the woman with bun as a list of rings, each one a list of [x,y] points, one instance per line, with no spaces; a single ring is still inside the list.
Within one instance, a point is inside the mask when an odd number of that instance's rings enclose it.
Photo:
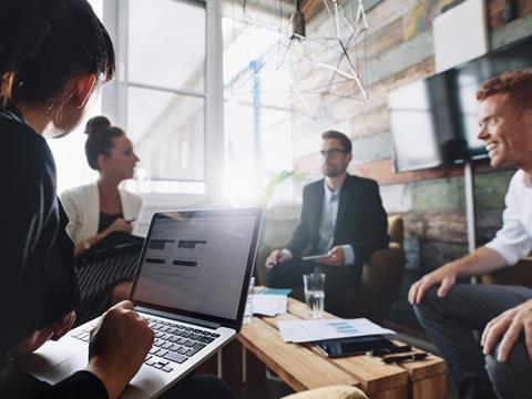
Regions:
[[[125,182],[127,190],[213,196],[224,156],[218,3],[90,2],[115,45],[116,78],[104,85],[79,130],[50,141],[59,191],[96,178],[81,132],[89,117],[104,114],[126,131],[141,158],[137,175]]]

